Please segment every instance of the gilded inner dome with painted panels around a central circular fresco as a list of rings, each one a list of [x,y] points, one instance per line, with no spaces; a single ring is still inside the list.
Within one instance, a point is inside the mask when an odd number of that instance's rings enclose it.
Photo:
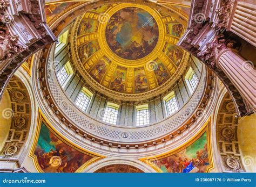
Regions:
[[[183,32],[183,25],[164,11],[140,4],[102,5],[73,24],[72,59],[86,82],[105,95],[150,98],[184,73],[189,56],[176,46]]]

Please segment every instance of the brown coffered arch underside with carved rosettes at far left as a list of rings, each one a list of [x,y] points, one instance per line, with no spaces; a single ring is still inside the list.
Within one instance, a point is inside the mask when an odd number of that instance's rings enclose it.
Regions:
[[[7,90],[11,98],[11,129],[0,155],[16,157],[24,145],[31,121],[31,103],[25,85],[16,76],[11,78]]]

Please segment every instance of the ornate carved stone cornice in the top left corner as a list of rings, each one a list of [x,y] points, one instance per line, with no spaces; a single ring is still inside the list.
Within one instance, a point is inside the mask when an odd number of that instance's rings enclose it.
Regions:
[[[0,98],[16,69],[32,53],[56,41],[45,23],[44,1],[0,1]]]

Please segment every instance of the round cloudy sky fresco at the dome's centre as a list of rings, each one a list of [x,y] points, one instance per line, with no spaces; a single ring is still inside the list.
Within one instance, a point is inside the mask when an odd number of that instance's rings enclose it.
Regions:
[[[106,41],[111,51],[127,60],[150,54],[158,41],[158,25],[149,12],[127,7],[114,13],[106,26]]]

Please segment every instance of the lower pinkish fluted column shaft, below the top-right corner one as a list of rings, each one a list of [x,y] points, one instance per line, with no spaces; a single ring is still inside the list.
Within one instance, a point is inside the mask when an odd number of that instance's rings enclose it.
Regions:
[[[216,59],[218,68],[230,78],[247,102],[256,109],[256,70],[251,61],[242,59],[231,49],[221,51]]]

